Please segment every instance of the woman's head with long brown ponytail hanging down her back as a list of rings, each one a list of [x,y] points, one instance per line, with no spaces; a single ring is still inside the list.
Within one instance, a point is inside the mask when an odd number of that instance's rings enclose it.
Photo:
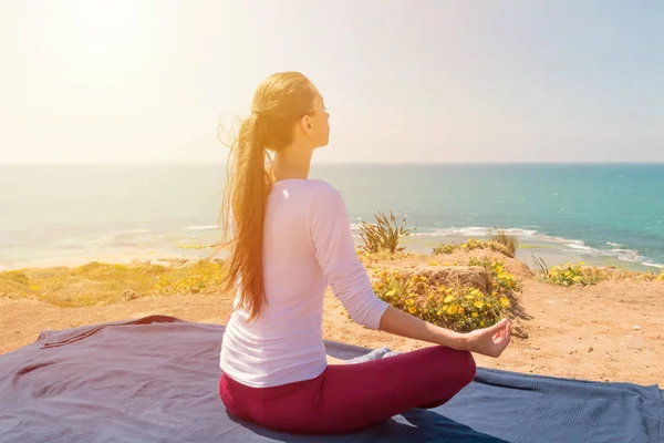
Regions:
[[[323,99],[309,79],[299,72],[276,73],[256,90],[251,115],[241,123],[231,147],[221,208],[224,236],[230,239],[226,288],[240,284],[238,306],[250,312],[250,319],[258,317],[264,301],[262,231],[273,183],[268,150],[286,153],[326,145],[328,119]]]

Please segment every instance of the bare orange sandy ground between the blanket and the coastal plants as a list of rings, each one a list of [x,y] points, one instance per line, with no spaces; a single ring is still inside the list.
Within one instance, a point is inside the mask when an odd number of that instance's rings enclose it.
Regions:
[[[440,261],[456,258],[445,256]],[[416,261],[391,265],[407,267]],[[478,365],[574,379],[664,384],[664,281],[604,281],[593,287],[562,288],[536,280],[516,260],[508,260],[508,269],[523,278],[522,313],[515,322],[528,338],[515,338],[499,359],[476,356]],[[45,329],[156,313],[225,323],[230,308],[231,298],[220,295],[148,297],[86,308],[0,299],[0,353],[33,342]],[[331,292],[325,295],[323,333],[325,339],[367,348],[388,346],[407,351],[428,346],[355,324]]]

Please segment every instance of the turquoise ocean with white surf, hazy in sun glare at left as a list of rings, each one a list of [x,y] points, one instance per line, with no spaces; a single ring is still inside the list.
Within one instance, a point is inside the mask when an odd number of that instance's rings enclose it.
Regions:
[[[208,256],[225,166],[0,166],[0,266],[154,253]],[[408,248],[519,237],[518,257],[656,271],[664,267],[664,165],[314,164],[343,194],[355,235],[393,210]]]

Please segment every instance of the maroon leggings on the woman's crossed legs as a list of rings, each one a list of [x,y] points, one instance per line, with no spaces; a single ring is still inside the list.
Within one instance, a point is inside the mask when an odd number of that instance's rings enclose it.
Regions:
[[[312,380],[249,388],[226,374],[219,394],[229,414],[291,433],[340,433],[412,408],[444,404],[475,378],[470,352],[419,349],[356,364],[332,364]]]

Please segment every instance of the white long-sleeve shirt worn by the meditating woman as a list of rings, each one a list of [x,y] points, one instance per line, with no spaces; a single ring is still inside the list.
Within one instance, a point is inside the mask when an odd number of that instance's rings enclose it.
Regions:
[[[371,287],[355,253],[345,204],[330,184],[287,179],[273,185],[262,261],[267,305],[251,322],[247,310],[235,311],[224,334],[220,367],[238,382],[276,387],[324,371],[328,285],[355,322],[378,328],[388,305]]]

